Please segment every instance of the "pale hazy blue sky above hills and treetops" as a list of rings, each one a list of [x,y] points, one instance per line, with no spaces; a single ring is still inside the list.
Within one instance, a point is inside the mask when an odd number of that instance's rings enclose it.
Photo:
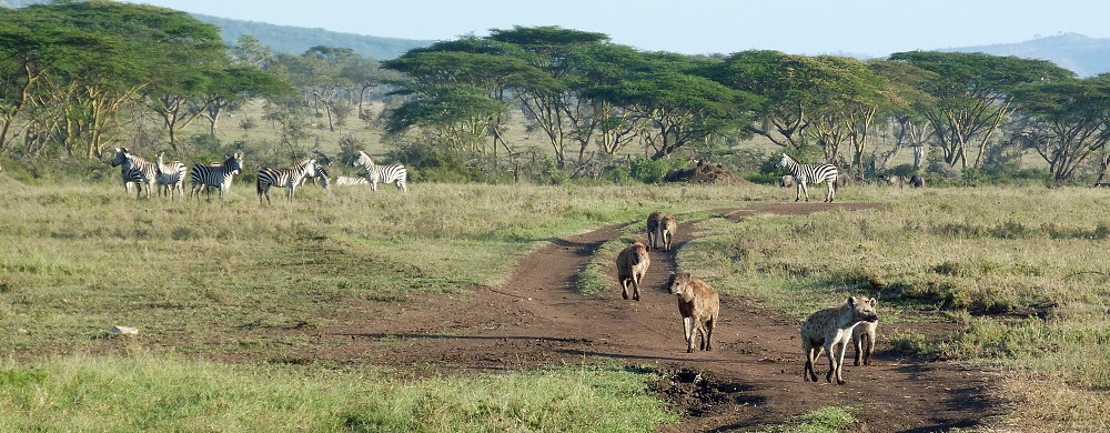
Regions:
[[[140,0],[186,12],[389,38],[450,40],[513,26],[602,32],[688,54],[770,49],[887,54],[1080,33],[1110,38],[1107,0]]]

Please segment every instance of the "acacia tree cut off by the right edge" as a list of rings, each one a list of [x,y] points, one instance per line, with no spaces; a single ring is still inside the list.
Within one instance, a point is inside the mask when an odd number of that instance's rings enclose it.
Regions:
[[[1071,179],[1110,141],[1110,74],[1029,83],[1013,95],[1025,124],[1019,137],[1057,181]]]

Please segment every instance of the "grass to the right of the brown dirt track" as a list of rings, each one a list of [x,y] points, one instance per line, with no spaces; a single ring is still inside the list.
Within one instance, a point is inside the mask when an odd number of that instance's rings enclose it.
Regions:
[[[961,330],[950,342],[905,333],[891,343],[1021,377],[1003,379],[999,392],[1020,402],[1015,425],[1104,425],[1110,195],[862,187],[849,197],[882,205],[738,223],[710,219],[679,252],[679,264],[723,293],[798,319],[867,294],[879,298],[884,323],[955,322]]]

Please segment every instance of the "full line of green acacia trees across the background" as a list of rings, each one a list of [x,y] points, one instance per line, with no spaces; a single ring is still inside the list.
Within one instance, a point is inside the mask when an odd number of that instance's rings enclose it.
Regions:
[[[380,63],[349,48],[274,53],[252,37],[226,47],[184,12],[101,0],[0,9],[0,152],[29,163],[98,159],[151,135],[171,153],[229,151],[213,142],[221,114],[265,100],[264,120],[282,130],[271,158],[303,153],[310,122],[334,130],[354,114],[387,133],[397,159],[441,179],[519,177],[525,165],[552,179],[627,175],[676,154],[768,171],[770,155],[741,145],[756,138],[857,178],[1008,177],[1032,153],[1046,168],[1033,177],[1101,182],[1110,164],[1110,77],[982,53],[703,57],[516,27]],[[387,102],[377,115],[363,105],[374,99]],[[210,134],[183,142],[194,121]],[[505,134],[522,122],[549,152]],[[890,167],[901,151],[914,163]]]

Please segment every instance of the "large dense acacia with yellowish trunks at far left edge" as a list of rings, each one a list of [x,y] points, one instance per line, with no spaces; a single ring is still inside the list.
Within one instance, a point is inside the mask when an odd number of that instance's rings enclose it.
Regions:
[[[165,8],[56,2],[3,13],[6,50],[30,67],[20,82],[38,84],[21,87],[20,108],[69,154],[99,157],[128,114],[141,113],[143,95],[173,115],[174,95],[202,85],[223,51],[215,27]]]

